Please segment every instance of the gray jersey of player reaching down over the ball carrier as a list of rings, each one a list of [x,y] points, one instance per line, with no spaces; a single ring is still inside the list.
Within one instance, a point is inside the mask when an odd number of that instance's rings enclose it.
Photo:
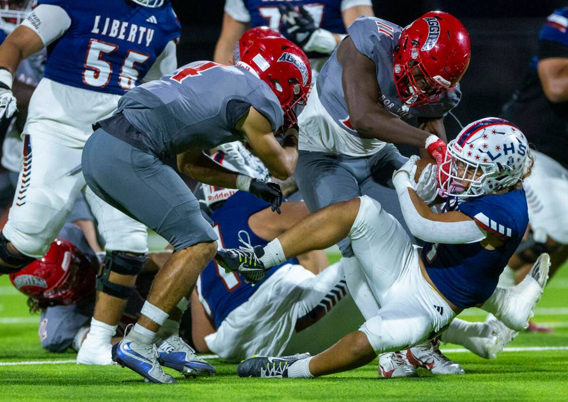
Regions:
[[[388,26],[391,30],[378,28]],[[459,86],[449,93],[444,93],[435,102],[423,106],[408,107],[403,105],[396,92],[392,63],[394,48],[398,42],[401,27],[391,22],[374,17],[360,17],[347,29],[357,50],[369,57],[377,66],[377,82],[381,89],[381,102],[392,114],[404,120],[413,117],[441,118],[454,108],[461,98]],[[387,33],[383,33],[387,32]],[[341,85],[343,68],[337,61],[337,48],[325,63],[318,76],[317,87],[321,104],[333,120],[353,135],[357,132],[346,123],[349,112]]]

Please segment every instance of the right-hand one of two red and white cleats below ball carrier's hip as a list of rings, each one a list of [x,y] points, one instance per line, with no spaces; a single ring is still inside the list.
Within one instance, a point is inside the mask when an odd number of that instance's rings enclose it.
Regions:
[[[432,374],[465,374],[459,363],[446,357],[440,351],[440,340],[433,339],[406,351],[408,362],[414,367],[422,367]]]

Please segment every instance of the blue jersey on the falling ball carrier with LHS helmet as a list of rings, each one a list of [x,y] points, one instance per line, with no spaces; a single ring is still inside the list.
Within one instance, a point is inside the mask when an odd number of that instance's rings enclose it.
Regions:
[[[495,291],[499,275],[519,246],[529,221],[525,191],[471,198],[456,210],[503,242],[488,250],[481,242],[470,244],[427,243],[422,260],[432,282],[446,299],[461,308],[485,302]]]

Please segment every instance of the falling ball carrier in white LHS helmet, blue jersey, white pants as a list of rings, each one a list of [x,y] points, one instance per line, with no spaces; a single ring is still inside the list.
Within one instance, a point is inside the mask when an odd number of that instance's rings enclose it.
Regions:
[[[525,137],[501,119],[467,125],[448,145],[439,171],[448,195],[444,213],[432,212],[414,190],[423,184],[413,183],[416,160],[397,170],[393,182],[409,228],[427,241],[421,256],[398,221],[368,196],[308,216],[256,253],[219,251],[222,266],[257,280],[265,267],[348,236],[355,257],[344,259],[346,282],[366,319],[360,330],[315,357],[255,357],[239,365],[239,375],[311,378],[350,370],[435,336],[468,307],[483,306],[508,326],[526,325],[548,264],[537,266],[516,290],[523,295],[515,305],[507,304],[515,292],[496,288],[528,224],[521,182],[531,164]],[[422,190],[428,199],[437,187]],[[379,370],[396,370],[396,362],[382,363]]]

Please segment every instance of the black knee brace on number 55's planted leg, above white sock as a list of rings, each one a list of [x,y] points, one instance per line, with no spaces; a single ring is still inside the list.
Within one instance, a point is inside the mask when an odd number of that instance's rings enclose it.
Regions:
[[[105,263],[97,275],[97,290],[119,299],[128,299],[134,292],[134,287],[110,282],[111,272],[120,275],[138,275],[144,268],[146,256],[131,256],[119,251],[108,251]]]

